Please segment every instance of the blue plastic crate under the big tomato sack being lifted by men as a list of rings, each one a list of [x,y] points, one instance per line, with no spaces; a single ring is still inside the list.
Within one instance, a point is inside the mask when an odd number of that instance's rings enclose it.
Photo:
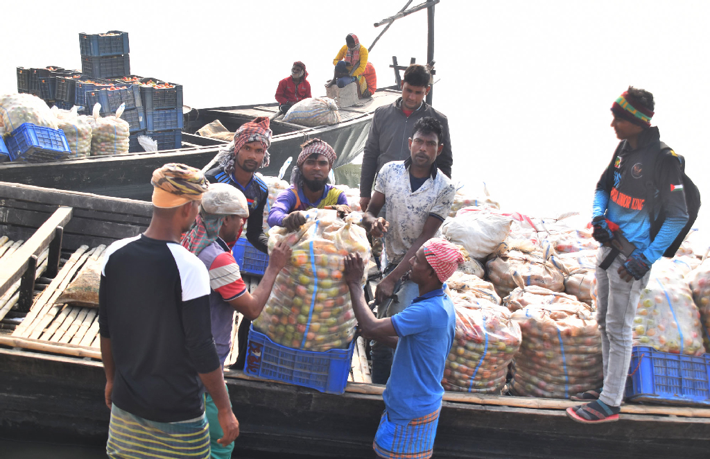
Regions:
[[[244,373],[263,379],[290,382],[327,394],[342,394],[348,384],[355,340],[347,349],[314,352],[276,344],[249,327]]]

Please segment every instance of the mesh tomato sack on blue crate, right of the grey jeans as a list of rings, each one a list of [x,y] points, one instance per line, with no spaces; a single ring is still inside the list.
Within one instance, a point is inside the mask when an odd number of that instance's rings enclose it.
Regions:
[[[700,311],[684,271],[672,260],[653,264],[633,318],[633,345],[673,354],[704,354]]]

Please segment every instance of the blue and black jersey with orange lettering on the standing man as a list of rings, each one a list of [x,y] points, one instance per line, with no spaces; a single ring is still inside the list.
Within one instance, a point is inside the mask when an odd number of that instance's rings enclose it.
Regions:
[[[645,129],[632,149],[619,143],[594,194],[594,216],[606,215],[651,262],[659,259],[688,220],[682,163],[664,148],[657,127]],[[666,220],[655,238],[651,222],[660,209]]]

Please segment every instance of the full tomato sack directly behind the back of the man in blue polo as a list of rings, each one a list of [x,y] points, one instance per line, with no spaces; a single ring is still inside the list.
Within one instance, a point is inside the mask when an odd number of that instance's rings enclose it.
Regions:
[[[456,306],[456,335],[444,369],[447,391],[501,394],[520,347],[520,327],[503,306],[480,300]]]

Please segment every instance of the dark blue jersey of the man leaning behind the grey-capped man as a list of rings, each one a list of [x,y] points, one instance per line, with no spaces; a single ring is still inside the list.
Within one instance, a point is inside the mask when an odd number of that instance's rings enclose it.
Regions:
[[[246,239],[251,242],[257,250],[267,253],[268,237],[263,230],[263,212],[268,202],[268,186],[261,178],[254,174],[246,184],[246,187],[241,186],[239,182],[234,180],[234,177],[227,175],[222,167],[210,169],[204,174],[210,183],[229,183],[237,190],[244,193],[246,202],[249,204],[249,219],[246,220]]]

